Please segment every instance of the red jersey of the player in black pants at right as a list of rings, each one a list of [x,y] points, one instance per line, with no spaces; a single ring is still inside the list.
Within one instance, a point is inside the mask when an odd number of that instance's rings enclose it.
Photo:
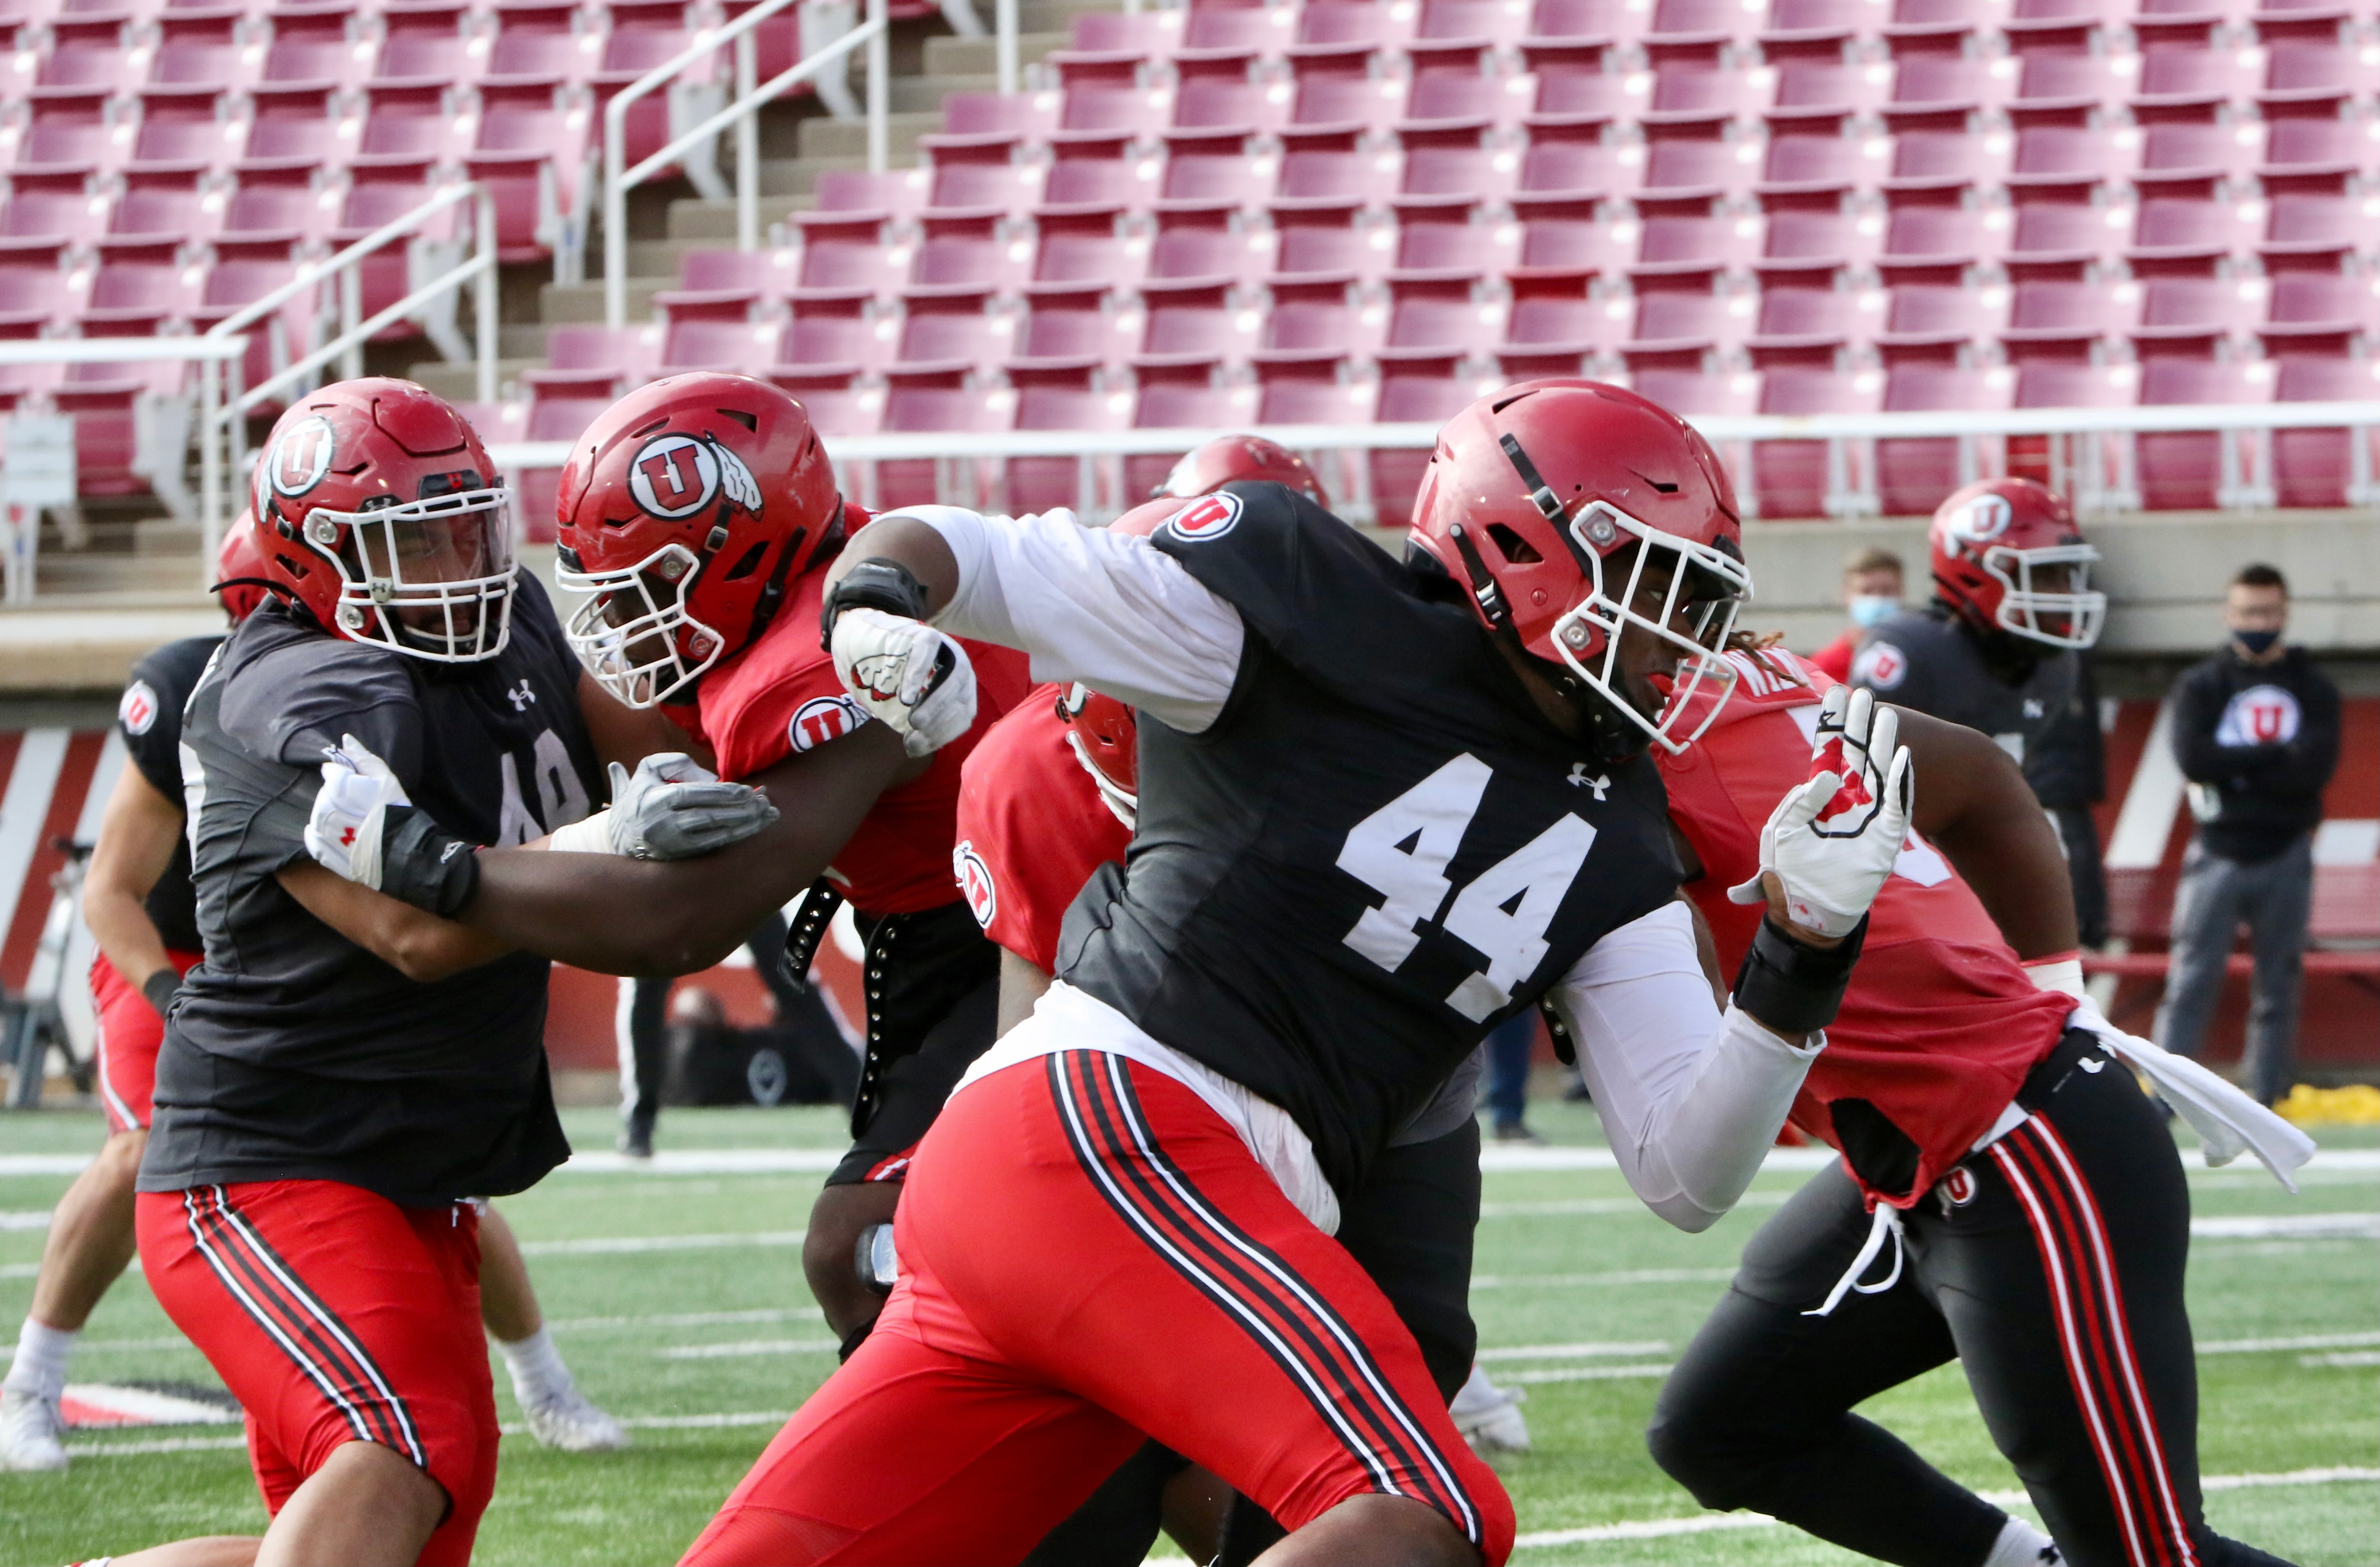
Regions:
[[[1702,857],[1685,891],[1711,922],[1721,974],[1745,960],[1764,914],[1728,903],[1728,888],[1759,874],[1761,824],[1809,776],[1818,698],[1835,683],[1790,653],[1728,657],[1742,679],[1718,722],[1685,755],[1661,757],[1668,819]],[[1844,1150],[1871,1205],[1909,1207],[1992,1129],[2071,1007],[2033,988],[1973,888],[1909,834],[1792,1119]]]

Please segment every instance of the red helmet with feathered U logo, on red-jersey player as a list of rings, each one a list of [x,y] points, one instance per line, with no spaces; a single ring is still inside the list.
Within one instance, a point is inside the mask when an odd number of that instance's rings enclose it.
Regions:
[[[578,436],[557,495],[564,631],[631,707],[683,700],[740,653],[843,519],[809,414],[752,376],[643,386]]]

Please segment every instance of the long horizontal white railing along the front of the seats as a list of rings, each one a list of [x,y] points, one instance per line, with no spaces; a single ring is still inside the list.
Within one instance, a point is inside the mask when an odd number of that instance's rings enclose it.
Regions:
[[[1923,414],[1699,414],[1690,419],[1714,445],[1730,452],[1730,469],[1747,500],[1756,493],[1749,483],[1749,464],[1742,450],[1764,441],[1825,441],[1830,445],[1830,512],[1856,517],[1873,512],[1873,460],[1861,462],[1866,488],[1844,472],[1852,467],[1844,448],[1873,441],[1923,441],[1923,438],[2004,438],[2004,436],[2104,436],[2128,438],[2166,431],[2232,431],[2268,438],[2282,429],[2349,429],[2366,438],[2349,443],[2347,493],[2356,505],[2380,505],[2380,483],[2373,479],[2370,433],[2380,431],[2380,400],[2359,402],[2242,402],[2242,405],[2161,405],[2161,407],[2025,407],[2025,410],[1961,410]],[[1290,450],[1338,457],[1340,483],[1333,495],[1342,498],[1340,512],[1352,522],[1371,517],[1368,469],[1354,457],[1388,450],[1430,450],[1438,443],[1438,424],[1276,424],[1238,426],[1254,429]],[[1214,436],[1233,433],[1221,429],[1123,429],[1123,431],[947,431],[947,433],[888,433],[888,436],[828,436],[826,450],[835,467],[845,472],[845,488],[866,495],[871,464],[923,462],[940,464],[938,488],[950,498],[973,498],[995,502],[997,476],[964,472],[988,469],[1007,457],[1073,457],[1078,462],[1078,510],[1109,514],[1123,510],[1135,498],[1121,488],[1121,476],[1109,472],[1121,457],[1147,457],[1185,452]],[[2230,445],[2230,443],[2225,443]],[[524,469],[562,467],[569,460],[566,441],[519,441],[490,445],[490,460],[507,474]],[[2230,474],[2232,452],[2225,452]],[[2268,462],[2256,469],[2266,483],[2230,481],[2235,495],[2225,505],[2271,505]],[[1104,476],[1102,476],[1104,474]],[[2075,464],[2073,488],[2078,505],[2097,512],[2121,512],[2137,505],[2137,493],[2123,481],[2121,462],[2116,481],[2099,472],[2094,460]],[[1104,493],[1102,493],[1104,491]]]

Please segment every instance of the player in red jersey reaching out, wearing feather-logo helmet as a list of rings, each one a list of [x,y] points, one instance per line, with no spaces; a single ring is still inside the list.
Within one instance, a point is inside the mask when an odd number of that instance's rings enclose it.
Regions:
[[[826,922],[852,905],[866,1062],[802,1269],[854,1346],[883,1305],[854,1265],[859,1236],[892,1217],[912,1145],[992,1038],[1000,950],[950,881],[952,812],[973,736],[1028,686],[1023,660],[971,660],[981,707],[938,755],[869,722],[819,645],[826,569],[866,514],[835,493],[809,414],[766,381],[669,376],[621,398],[578,438],[557,505],[559,581],[585,593],[566,636],[590,679],[631,710],[669,705],[726,779],[785,810],[700,867],[476,855],[471,884],[428,903],[607,974],[707,967],[795,898],[785,974],[807,974]],[[355,798],[369,798],[362,774]],[[319,829],[336,836],[328,817]]]

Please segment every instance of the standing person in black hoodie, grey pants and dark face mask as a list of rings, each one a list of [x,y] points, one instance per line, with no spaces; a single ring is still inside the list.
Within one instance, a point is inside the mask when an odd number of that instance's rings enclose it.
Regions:
[[[2256,979],[2247,1088],[2271,1105],[2297,1074],[2297,993],[2313,905],[2313,829],[2340,764],[2340,688],[2290,626],[2290,583],[2242,567],[2223,600],[2230,643],[2173,688],[2173,750],[2199,831],[2173,898],[2173,967],[2156,1043],[2197,1055],[2247,924]]]

